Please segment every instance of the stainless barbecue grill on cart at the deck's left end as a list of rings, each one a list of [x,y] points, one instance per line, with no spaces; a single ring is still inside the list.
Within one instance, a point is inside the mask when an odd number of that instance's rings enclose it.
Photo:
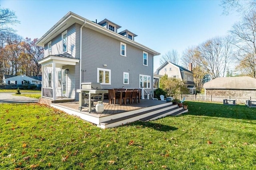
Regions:
[[[81,83],[82,89],[77,89],[76,92],[79,93],[79,107],[78,110],[81,111],[84,107],[89,107],[89,113],[92,109],[95,109],[94,102],[101,100],[103,102],[104,94],[108,93],[108,90],[102,89],[100,83],[90,82]]]

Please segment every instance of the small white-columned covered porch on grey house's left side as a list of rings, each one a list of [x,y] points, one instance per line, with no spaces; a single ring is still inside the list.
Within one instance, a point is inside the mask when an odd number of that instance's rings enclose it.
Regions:
[[[38,63],[42,64],[42,98],[52,101],[75,99],[75,83],[72,83],[72,79],[79,61],[68,53],[49,55],[40,60]]]

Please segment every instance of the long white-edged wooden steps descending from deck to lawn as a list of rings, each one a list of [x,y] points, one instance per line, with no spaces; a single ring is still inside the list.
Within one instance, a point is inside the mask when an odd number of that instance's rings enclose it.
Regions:
[[[138,112],[139,111],[139,112]],[[133,121],[150,121],[154,119],[158,119],[160,117],[164,117],[166,115],[178,115],[181,113],[185,113],[188,110],[184,110],[182,107],[178,107],[178,105],[164,104],[157,105],[153,107],[147,107],[144,109],[133,110],[130,111],[130,114],[126,112],[126,114],[119,113],[116,115],[116,118],[109,119],[106,121],[100,121],[99,127],[105,129],[110,127],[116,127],[119,125],[123,125],[126,123],[130,123]]]

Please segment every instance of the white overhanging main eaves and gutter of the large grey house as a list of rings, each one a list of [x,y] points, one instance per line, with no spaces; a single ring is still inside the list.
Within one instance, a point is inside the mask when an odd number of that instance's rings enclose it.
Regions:
[[[36,45],[44,47],[44,44],[48,43],[54,37],[61,34],[63,31],[68,29],[74,23],[84,25],[84,27],[88,27],[90,29],[93,29],[94,31],[103,33],[103,34],[108,35],[109,37],[112,37],[114,39],[118,39],[119,41],[123,41],[124,43],[127,43],[129,45],[137,47],[138,49],[142,49],[148,53],[152,53],[154,56],[160,55],[160,53],[158,53],[140,43],[137,43],[136,41],[133,41],[131,39],[124,37],[123,35],[120,35],[119,33],[116,33],[114,31],[106,29],[105,27],[102,27],[98,23],[95,23],[94,21],[90,21],[86,18],[83,18],[73,12],[68,12],[68,14],[66,14],[62,19],[60,19],[60,21],[58,21],[40,39],[38,39],[38,41],[36,42]]]

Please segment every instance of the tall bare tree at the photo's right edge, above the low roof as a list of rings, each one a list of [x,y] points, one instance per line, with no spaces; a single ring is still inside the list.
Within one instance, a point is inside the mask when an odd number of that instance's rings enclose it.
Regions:
[[[244,15],[242,21],[234,24],[230,32],[238,48],[239,65],[236,68],[244,75],[256,78],[256,11]]]

